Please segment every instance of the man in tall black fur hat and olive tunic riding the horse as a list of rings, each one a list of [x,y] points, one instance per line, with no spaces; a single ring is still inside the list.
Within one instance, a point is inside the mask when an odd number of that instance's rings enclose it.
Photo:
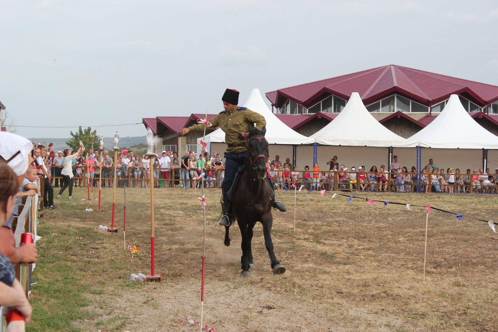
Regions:
[[[209,120],[211,123],[207,129],[220,128],[225,132],[225,143],[228,148],[225,153],[225,179],[223,181],[223,199],[222,213],[220,225],[229,226],[235,217],[228,210],[229,200],[227,192],[232,186],[237,169],[246,165],[247,143],[246,138],[249,136],[249,123],[256,124],[255,128],[261,130],[266,125],[266,120],[259,113],[253,112],[246,107],[238,107],[239,91],[227,89],[223,94],[223,107],[225,111],[220,112],[216,118]],[[188,134],[192,131],[203,131],[205,123],[200,123],[188,128],[183,128],[180,131],[181,135]],[[270,178],[266,177],[270,182],[270,187],[273,187]],[[279,201],[273,203],[273,207],[280,211],[285,211],[287,208]]]

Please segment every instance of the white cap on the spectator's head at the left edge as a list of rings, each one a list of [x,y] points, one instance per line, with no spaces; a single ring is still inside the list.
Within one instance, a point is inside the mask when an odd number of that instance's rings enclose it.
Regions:
[[[33,143],[24,137],[0,132],[0,156],[17,175],[26,173],[31,149]]]

